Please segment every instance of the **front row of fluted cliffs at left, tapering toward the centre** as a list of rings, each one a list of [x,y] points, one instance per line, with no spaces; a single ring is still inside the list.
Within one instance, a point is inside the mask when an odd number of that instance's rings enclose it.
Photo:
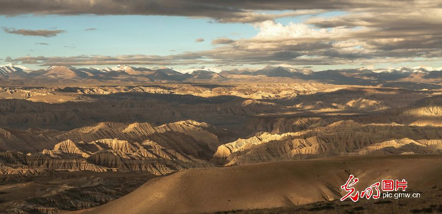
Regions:
[[[164,175],[184,168],[213,166],[205,160],[167,149],[151,140],[129,143],[118,139],[101,139],[89,143],[67,140],[55,144],[52,150],[45,149],[37,154],[3,152],[0,153],[0,161],[29,170],[45,167],[68,171],[133,171],[153,175]],[[4,169],[4,173],[11,171]]]

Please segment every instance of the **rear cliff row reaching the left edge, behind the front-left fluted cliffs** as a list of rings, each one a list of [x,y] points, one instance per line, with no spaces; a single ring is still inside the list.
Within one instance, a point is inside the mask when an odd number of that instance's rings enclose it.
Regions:
[[[210,159],[222,141],[230,139],[228,131],[207,123],[185,120],[155,126],[150,123],[101,122],[70,131],[0,128],[0,151],[40,152],[51,149],[65,151],[72,142],[92,142],[100,139],[120,139],[130,143],[155,141],[197,158]],[[68,141],[69,140],[69,141]],[[80,148],[72,148],[80,154]],[[54,151],[57,153],[57,151]],[[54,155],[55,155],[54,153]],[[83,152],[84,153],[84,152]]]

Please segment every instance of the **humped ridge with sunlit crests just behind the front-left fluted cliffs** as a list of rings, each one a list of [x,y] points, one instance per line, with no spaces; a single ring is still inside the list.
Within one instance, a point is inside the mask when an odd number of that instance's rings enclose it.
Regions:
[[[161,146],[193,155],[196,158],[209,159],[216,148],[221,145],[222,130],[194,120],[167,123],[154,126],[150,123],[114,123],[104,122],[71,130],[57,136],[57,139],[71,139],[75,142],[91,142],[99,139],[119,139],[130,143],[146,140],[159,143]]]

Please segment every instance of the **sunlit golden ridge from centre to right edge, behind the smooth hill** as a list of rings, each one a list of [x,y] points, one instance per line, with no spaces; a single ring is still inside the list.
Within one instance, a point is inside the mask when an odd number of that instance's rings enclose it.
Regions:
[[[257,134],[218,147],[212,161],[243,165],[277,160],[379,154],[442,154],[439,127],[339,121],[299,132]]]

